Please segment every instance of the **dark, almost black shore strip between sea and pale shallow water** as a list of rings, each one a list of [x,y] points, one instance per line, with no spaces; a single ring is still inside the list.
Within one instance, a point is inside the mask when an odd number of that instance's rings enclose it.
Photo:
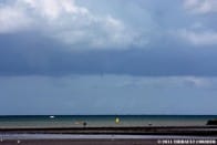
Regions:
[[[0,127],[1,134],[120,134],[120,135],[199,135],[217,136],[217,126],[137,126],[137,127]]]

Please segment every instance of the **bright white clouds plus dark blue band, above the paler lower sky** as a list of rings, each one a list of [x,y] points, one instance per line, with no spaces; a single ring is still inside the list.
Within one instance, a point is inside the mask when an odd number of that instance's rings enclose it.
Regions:
[[[214,3],[2,1],[0,74],[216,76]]]

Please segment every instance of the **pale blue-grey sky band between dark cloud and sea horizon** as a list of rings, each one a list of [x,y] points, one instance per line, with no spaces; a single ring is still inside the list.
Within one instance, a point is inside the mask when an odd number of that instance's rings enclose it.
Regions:
[[[0,114],[216,114],[216,86],[194,76],[0,76]]]

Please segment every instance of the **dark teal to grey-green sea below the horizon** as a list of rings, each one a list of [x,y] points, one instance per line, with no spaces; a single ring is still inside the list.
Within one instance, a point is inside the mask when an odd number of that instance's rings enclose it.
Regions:
[[[203,126],[217,115],[29,115],[0,116],[0,127]]]

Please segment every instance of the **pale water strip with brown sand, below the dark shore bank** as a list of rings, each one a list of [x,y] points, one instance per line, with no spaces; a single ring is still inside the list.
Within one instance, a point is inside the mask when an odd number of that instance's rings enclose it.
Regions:
[[[216,145],[217,136],[1,134],[0,145]]]

